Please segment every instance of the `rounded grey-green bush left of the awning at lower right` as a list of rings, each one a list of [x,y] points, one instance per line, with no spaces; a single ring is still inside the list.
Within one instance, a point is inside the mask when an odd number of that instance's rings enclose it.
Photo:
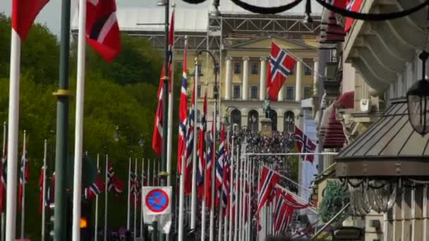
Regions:
[[[350,198],[350,193],[337,180],[327,180],[324,193],[320,203],[319,216],[322,222],[326,223],[344,207]]]

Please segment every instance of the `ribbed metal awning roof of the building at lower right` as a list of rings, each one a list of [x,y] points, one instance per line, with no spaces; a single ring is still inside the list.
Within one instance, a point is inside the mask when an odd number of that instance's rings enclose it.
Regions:
[[[409,122],[406,99],[392,106],[363,135],[340,152],[337,177],[428,176],[429,135]]]

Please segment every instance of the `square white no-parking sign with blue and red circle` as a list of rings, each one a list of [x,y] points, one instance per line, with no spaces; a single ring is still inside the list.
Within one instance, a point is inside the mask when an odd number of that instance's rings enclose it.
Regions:
[[[143,220],[146,224],[158,222],[158,230],[170,233],[171,228],[171,186],[142,187],[143,191]]]

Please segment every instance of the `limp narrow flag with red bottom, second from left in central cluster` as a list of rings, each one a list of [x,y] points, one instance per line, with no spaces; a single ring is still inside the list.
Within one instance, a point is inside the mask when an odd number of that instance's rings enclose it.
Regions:
[[[195,86],[195,82],[194,82]],[[194,133],[194,116],[195,116],[195,88],[192,91],[191,109],[189,109],[188,121],[186,121],[186,168],[185,168],[185,194],[191,194],[192,190],[192,154],[193,154],[193,133]]]

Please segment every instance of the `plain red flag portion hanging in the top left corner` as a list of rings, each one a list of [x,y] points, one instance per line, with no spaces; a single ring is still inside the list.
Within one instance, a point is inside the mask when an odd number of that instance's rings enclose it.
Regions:
[[[12,28],[25,40],[37,14],[49,0],[12,0]]]

